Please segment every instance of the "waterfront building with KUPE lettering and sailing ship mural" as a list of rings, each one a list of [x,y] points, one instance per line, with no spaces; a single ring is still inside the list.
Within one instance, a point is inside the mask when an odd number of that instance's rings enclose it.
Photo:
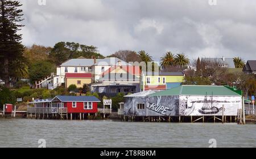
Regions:
[[[125,96],[124,114],[127,117],[214,117],[215,120],[224,115],[234,121],[238,109],[242,108],[241,94],[225,86],[180,85],[144,94],[147,95]]]

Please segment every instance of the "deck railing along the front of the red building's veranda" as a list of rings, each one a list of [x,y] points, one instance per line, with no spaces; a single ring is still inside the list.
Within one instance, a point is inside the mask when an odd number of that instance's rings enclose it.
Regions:
[[[35,108],[28,107],[28,114],[52,114],[52,113],[67,113],[67,108]]]

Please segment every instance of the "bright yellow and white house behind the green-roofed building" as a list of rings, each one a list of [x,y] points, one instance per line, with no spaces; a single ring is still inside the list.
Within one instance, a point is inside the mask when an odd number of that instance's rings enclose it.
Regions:
[[[170,89],[181,85],[184,80],[183,72],[159,72],[155,75],[144,75],[142,89]]]

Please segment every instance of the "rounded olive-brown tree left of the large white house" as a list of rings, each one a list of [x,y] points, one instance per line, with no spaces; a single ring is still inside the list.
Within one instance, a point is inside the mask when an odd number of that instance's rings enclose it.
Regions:
[[[51,75],[51,72],[55,71],[55,66],[46,61],[39,61],[34,64],[30,68],[28,68],[28,75],[30,77],[31,83],[35,83],[35,81],[42,80],[47,76]]]

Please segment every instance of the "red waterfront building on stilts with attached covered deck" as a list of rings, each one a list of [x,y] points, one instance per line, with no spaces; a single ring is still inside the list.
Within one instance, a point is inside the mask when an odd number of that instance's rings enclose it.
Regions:
[[[27,115],[82,119],[98,112],[98,102],[101,101],[94,96],[56,96],[52,99],[34,100],[28,102]]]

